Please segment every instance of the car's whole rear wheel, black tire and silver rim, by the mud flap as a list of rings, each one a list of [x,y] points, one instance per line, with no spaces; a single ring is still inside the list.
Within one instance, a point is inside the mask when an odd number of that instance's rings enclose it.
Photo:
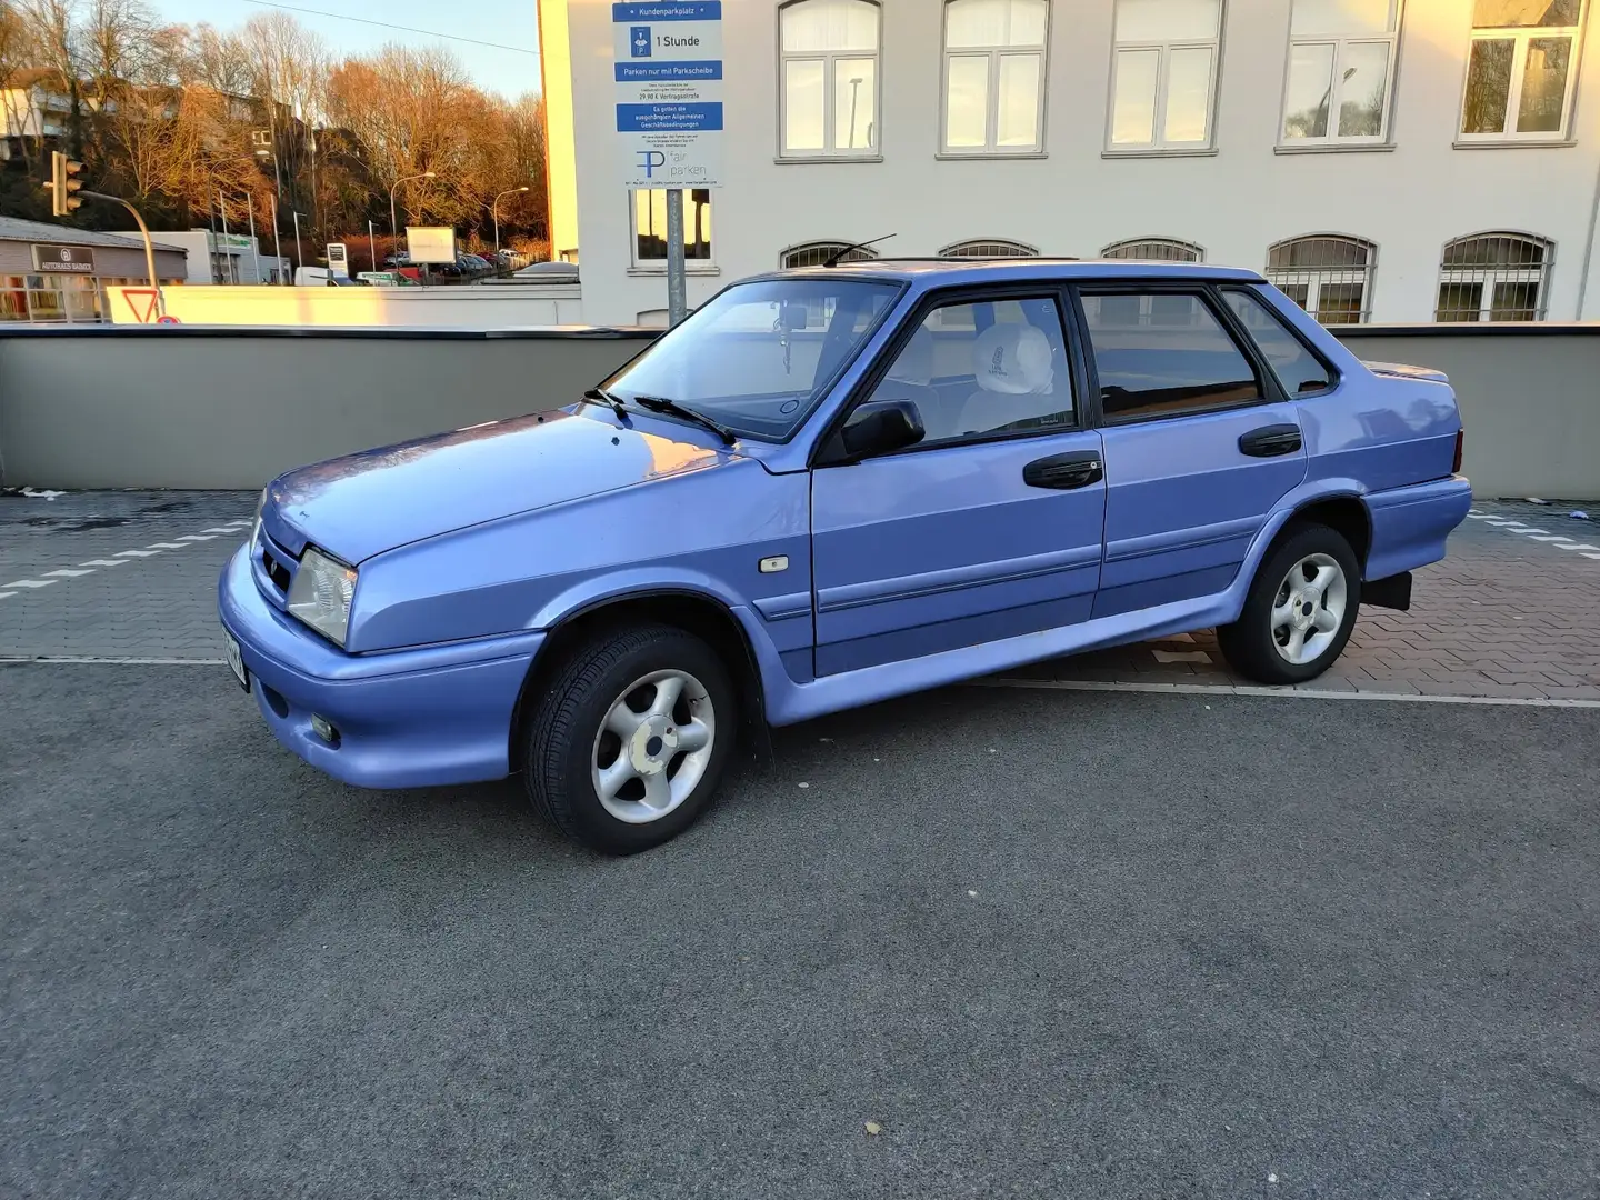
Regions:
[[[1256,570],[1238,621],[1219,626],[1229,664],[1261,683],[1304,683],[1333,666],[1355,627],[1362,571],[1326,525],[1302,525]]]

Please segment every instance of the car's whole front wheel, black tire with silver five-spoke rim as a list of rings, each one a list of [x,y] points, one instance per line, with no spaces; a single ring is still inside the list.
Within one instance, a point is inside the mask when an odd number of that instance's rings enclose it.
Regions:
[[[734,688],[693,634],[595,634],[530,722],[523,782],[565,834],[606,854],[661,845],[694,822],[728,762]]]

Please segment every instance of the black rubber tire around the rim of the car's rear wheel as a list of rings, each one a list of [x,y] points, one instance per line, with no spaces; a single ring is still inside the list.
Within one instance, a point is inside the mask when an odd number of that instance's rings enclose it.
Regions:
[[[1306,662],[1291,662],[1278,650],[1278,635],[1272,629],[1272,610],[1285,594],[1290,570],[1310,555],[1326,555],[1344,574],[1344,613],[1333,638]],[[1326,600],[1322,602],[1323,606]],[[1326,525],[1291,526],[1278,544],[1267,552],[1256,570],[1256,578],[1245,595],[1245,608],[1238,621],[1218,626],[1216,640],[1222,654],[1240,675],[1259,683],[1304,683],[1317,678],[1344,653],[1344,643],[1355,629],[1355,613],[1362,605],[1362,568],[1355,562],[1350,544]]]

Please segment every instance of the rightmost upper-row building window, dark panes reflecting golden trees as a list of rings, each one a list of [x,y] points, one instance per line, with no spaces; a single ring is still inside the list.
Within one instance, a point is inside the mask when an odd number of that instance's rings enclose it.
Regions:
[[[1474,0],[1462,141],[1560,141],[1586,0]]]

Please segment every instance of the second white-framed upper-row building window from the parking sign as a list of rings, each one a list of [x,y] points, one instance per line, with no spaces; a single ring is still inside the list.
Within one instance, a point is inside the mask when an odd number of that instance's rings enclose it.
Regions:
[[[946,0],[946,154],[1045,149],[1048,30],[1048,0]]]

